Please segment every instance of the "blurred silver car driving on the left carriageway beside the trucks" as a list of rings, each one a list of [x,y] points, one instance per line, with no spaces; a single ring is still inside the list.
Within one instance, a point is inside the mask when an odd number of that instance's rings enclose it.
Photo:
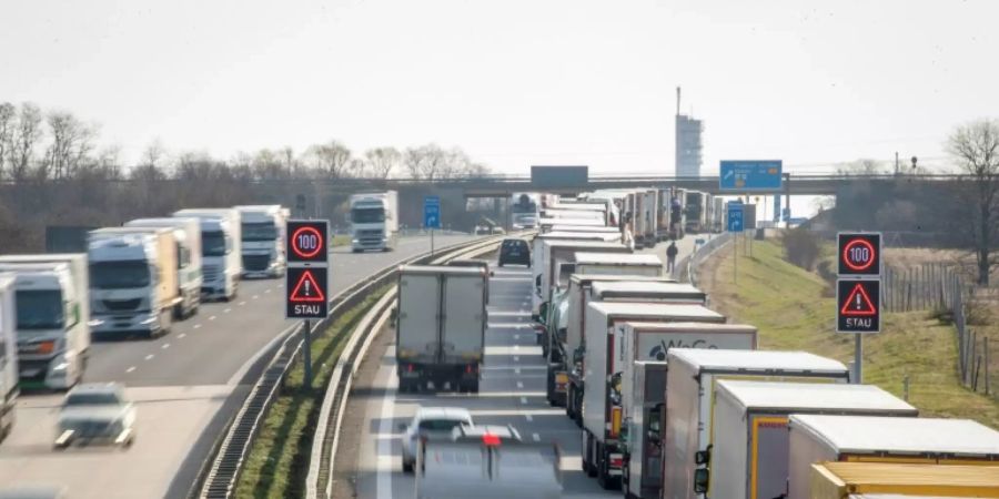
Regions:
[[[120,383],[77,385],[59,411],[56,449],[74,442],[112,444],[130,447],[135,440],[135,405]]]

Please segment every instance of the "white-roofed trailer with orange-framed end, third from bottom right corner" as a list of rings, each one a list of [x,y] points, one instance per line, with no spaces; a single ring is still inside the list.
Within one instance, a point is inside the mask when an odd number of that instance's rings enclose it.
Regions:
[[[720,380],[713,426],[715,477],[702,471],[713,497],[786,497],[791,414],[919,416],[905,400],[871,385]]]

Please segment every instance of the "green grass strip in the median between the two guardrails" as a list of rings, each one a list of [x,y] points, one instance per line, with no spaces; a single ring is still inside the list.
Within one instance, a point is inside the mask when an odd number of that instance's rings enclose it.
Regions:
[[[235,497],[290,498],[305,492],[312,436],[322,407],[323,393],[346,339],[369,307],[389,289],[384,286],[364,302],[337,317],[322,336],[312,343],[313,386],[304,384],[301,361],[287,375],[281,395],[271,411],[236,485]]]

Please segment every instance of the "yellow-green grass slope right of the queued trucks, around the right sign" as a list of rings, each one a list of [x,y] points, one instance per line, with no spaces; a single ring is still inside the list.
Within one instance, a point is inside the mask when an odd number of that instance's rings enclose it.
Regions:
[[[824,254],[827,253],[824,251]],[[759,328],[759,347],[800,349],[844,363],[854,358],[852,335],[835,333],[836,303],[817,274],[791,265],[777,242],[754,242],[740,252],[733,284],[728,246],[707,263],[702,285],[712,307]],[[882,314],[881,333],[864,343],[864,381],[902,395],[924,416],[969,418],[999,428],[999,403],[963,388],[957,375],[957,336],[928,313]]]

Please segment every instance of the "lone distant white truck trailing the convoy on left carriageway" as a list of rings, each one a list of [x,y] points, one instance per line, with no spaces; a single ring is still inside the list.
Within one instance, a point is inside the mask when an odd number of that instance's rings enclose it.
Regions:
[[[398,238],[398,194],[395,191],[354,194],[350,204],[352,251],[392,251]]]

